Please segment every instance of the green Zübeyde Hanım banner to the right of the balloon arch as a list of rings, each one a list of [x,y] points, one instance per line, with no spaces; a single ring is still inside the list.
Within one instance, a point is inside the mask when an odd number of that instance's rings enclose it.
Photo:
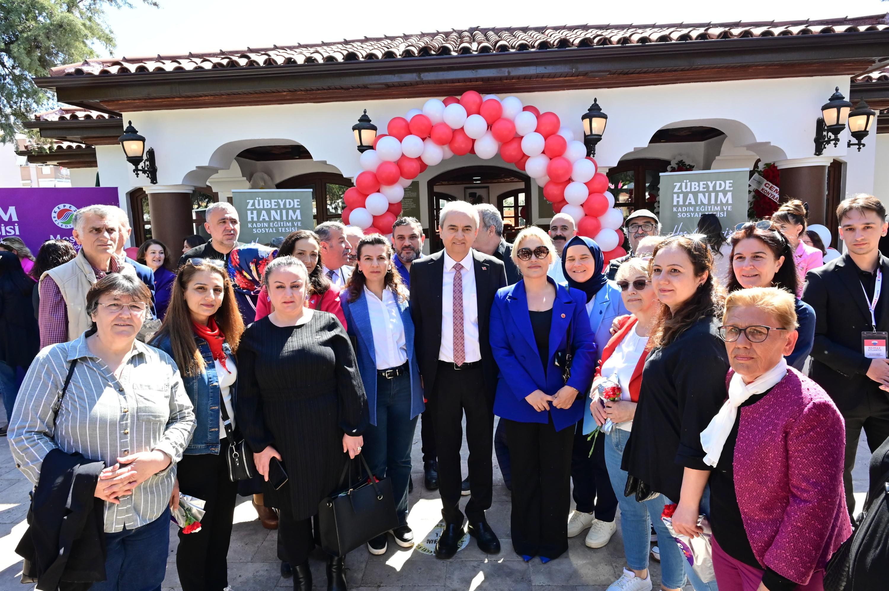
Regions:
[[[749,170],[661,172],[664,234],[691,234],[704,213],[714,213],[728,236],[747,221]]]

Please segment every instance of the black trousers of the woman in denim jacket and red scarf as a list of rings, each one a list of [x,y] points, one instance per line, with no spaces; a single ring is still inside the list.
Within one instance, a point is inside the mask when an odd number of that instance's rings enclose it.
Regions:
[[[228,437],[220,452],[182,456],[176,468],[179,490],[206,501],[201,531],[179,531],[176,570],[182,591],[222,591],[228,587],[228,542],[235,516],[237,483],[228,479]]]

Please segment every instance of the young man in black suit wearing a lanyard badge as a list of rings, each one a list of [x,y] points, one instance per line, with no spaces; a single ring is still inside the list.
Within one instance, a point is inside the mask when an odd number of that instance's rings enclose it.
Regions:
[[[810,375],[845,419],[843,481],[852,515],[852,468],[861,429],[871,452],[889,437],[889,360],[885,334],[879,334],[889,331],[889,306],[884,302],[889,296],[889,259],[878,248],[887,224],[877,197],[846,199],[837,207],[837,220],[847,252],[809,271],[803,300],[815,310]]]

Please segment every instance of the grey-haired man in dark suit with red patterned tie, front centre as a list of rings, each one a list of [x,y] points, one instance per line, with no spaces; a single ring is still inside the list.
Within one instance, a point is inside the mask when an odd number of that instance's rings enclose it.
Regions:
[[[461,421],[466,413],[469,479],[468,531],[478,547],[500,552],[500,541],[485,520],[491,507],[493,402],[497,364],[491,354],[488,325],[494,294],[506,286],[503,263],[473,250],[478,212],[453,201],[440,213],[445,250],[411,265],[411,317],[423,391],[432,408],[438,453],[439,494],[445,531],[436,555],[451,558],[463,535],[460,510]],[[419,297],[418,297],[419,296]]]

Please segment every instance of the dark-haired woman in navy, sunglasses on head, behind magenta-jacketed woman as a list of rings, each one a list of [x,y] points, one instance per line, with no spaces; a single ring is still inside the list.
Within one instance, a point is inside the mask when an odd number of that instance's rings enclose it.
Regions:
[[[763,220],[738,224],[732,236],[732,267],[729,269],[728,292],[750,287],[780,287],[796,296],[799,276],[793,265],[793,248],[780,228]],[[805,360],[815,339],[815,311],[796,298],[797,333],[799,338],[787,363],[803,371]]]

